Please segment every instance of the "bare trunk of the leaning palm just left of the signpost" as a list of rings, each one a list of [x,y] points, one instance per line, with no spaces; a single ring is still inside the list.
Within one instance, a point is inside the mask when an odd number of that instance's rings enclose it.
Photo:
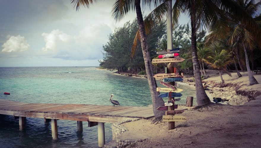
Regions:
[[[147,72],[147,79],[149,83],[149,90],[151,93],[151,98],[152,98],[152,107],[153,107],[153,113],[155,115],[155,118],[160,118],[162,115],[165,113],[163,111],[158,110],[157,108],[159,106],[164,106],[164,101],[162,98],[158,97],[160,94],[157,92],[157,84],[156,80],[153,77],[153,68],[152,68],[152,62],[151,58],[149,55],[149,47],[148,47],[148,42],[147,42],[147,36],[145,34],[145,27],[144,27],[144,22],[143,22],[143,17],[141,13],[141,6],[140,6],[140,0],[135,0],[135,7],[136,7],[136,14],[137,14],[137,22],[139,26],[139,34],[140,34],[140,39],[141,39],[141,49],[142,49],[142,54],[144,58],[144,63],[145,63],[145,69]]]

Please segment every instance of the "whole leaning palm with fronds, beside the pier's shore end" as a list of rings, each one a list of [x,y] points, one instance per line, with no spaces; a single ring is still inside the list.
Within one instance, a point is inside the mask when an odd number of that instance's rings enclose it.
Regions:
[[[74,7],[78,8],[80,6],[89,8],[90,4],[93,4],[94,2],[97,2],[98,0],[92,1],[92,0],[71,0],[71,3],[74,4]],[[139,34],[136,34],[136,36],[139,36],[141,41],[141,49],[143,53],[144,63],[145,63],[145,69],[147,73],[147,79],[149,83],[149,90],[151,92],[152,97],[152,107],[153,107],[153,113],[155,115],[155,118],[162,118],[162,115],[164,114],[163,111],[160,111],[157,109],[159,106],[164,105],[164,101],[162,98],[158,97],[160,94],[157,92],[157,84],[156,80],[153,77],[153,66],[152,61],[149,54],[149,48],[148,48],[148,42],[147,42],[147,35],[145,33],[145,26],[143,21],[143,16],[141,12],[141,6],[140,6],[140,0],[134,0],[134,1],[115,1],[114,5],[112,6],[112,17],[116,21],[120,21],[130,10],[136,10],[137,14],[137,23],[138,23],[138,30]],[[145,4],[150,4],[146,3]],[[164,8],[167,9],[167,5]],[[153,20],[151,20],[153,21]]]

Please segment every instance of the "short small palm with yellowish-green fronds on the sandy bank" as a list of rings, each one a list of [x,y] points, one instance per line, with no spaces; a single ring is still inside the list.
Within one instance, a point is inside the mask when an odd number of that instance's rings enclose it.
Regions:
[[[213,55],[208,57],[210,59],[209,62],[206,62],[207,64],[209,64],[210,67],[218,69],[222,83],[224,83],[225,81],[223,80],[221,71],[223,70],[227,72],[227,66],[233,62],[232,60],[229,60],[230,56],[231,55],[229,55],[226,50],[221,50],[221,52],[219,52],[219,50],[215,50],[213,52]]]

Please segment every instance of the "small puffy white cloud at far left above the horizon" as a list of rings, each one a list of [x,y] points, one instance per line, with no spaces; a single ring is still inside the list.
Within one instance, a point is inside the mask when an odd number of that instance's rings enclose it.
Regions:
[[[2,52],[15,52],[28,50],[30,45],[27,43],[24,36],[7,35],[7,41],[2,45]]]

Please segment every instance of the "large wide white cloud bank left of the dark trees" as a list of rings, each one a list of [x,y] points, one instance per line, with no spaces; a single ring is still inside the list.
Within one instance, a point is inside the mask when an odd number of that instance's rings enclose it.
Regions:
[[[98,60],[103,57],[102,45],[110,33],[106,24],[87,26],[75,36],[56,29],[42,34],[45,47],[38,54],[64,60]]]

